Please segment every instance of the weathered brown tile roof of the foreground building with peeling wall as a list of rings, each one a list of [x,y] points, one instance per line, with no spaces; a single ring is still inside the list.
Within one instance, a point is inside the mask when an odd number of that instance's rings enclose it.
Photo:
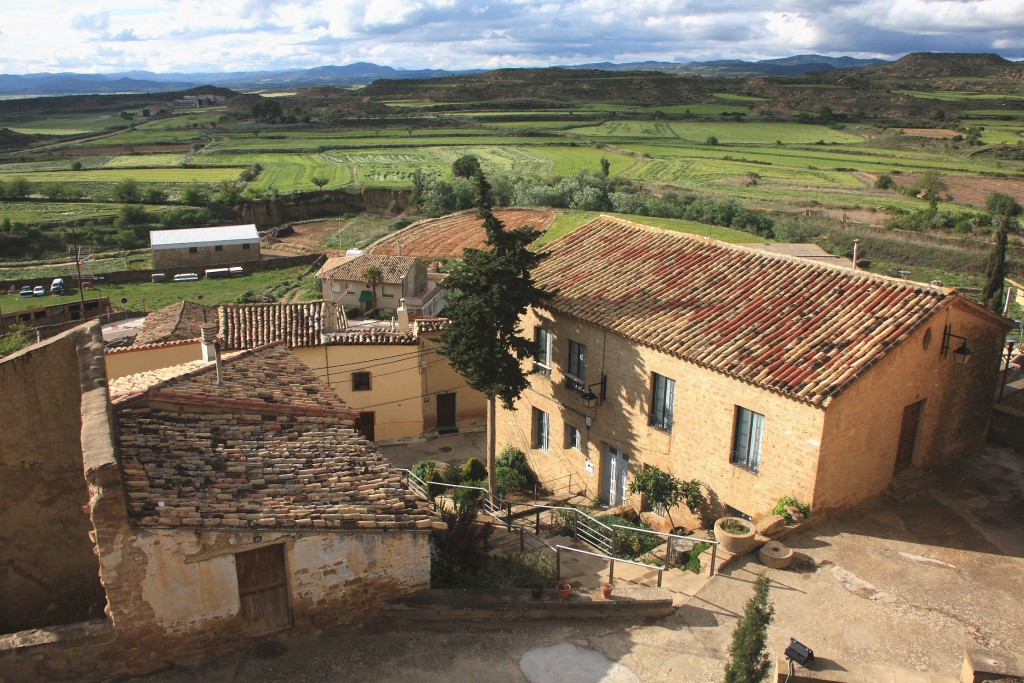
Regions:
[[[353,414],[280,347],[193,370],[116,407],[134,523],[431,528],[425,504],[351,428]],[[170,405],[168,405],[170,404]]]

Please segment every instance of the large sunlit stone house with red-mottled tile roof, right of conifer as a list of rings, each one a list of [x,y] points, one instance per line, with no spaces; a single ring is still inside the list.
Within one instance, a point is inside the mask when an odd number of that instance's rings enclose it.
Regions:
[[[497,420],[542,481],[616,506],[657,466],[715,512],[826,512],[985,440],[1010,323],[950,289],[608,216],[549,250],[530,386]]]

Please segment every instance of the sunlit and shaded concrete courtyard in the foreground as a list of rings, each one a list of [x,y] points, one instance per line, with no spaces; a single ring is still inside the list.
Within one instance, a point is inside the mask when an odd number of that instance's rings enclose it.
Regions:
[[[954,681],[965,647],[1024,652],[1024,457],[990,446],[919,481],[901,500],[880,498],[786,539],[801,555],[796,569],[748,558],[664,620],[286,634],[144,680],[718,682],[765,570],[773,656],[794,637],[836,680]]]

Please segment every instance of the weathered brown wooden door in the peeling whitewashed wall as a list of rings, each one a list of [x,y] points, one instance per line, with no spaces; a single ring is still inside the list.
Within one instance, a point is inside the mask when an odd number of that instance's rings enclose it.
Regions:
[[[252,635],[270,633],[292,624],[288,603],[288,572],[285,546],[266,546],[238,553],[234,570],[239,577],[242,618]]]

